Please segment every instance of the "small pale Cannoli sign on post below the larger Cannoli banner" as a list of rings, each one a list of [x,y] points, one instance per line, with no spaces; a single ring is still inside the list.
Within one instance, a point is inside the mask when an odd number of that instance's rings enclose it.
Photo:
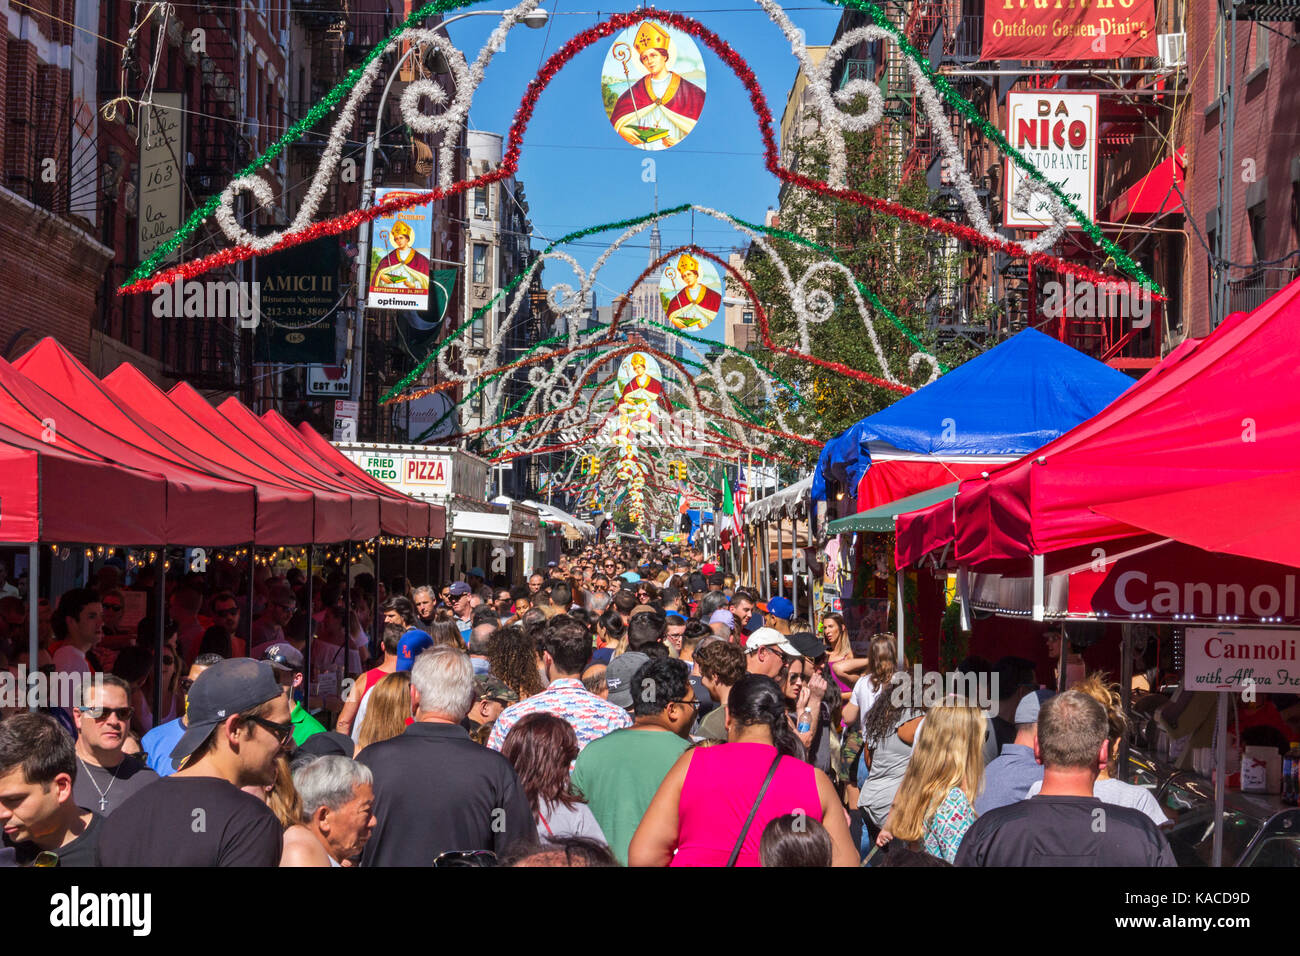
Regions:
[[[1183,650],[1190,691],[1300,692],[1300,631],[1190,627]]]

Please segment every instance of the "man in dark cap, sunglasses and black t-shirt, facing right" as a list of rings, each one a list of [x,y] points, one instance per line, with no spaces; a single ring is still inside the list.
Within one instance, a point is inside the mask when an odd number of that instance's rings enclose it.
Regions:
[[[237,658],[208,667],[190,688],[186,731],[172,777],[140,790],[105,818],[103,866],[278,866],[282,827],[240,787],[276,782],[276,757],[294,724],[270,663]]]

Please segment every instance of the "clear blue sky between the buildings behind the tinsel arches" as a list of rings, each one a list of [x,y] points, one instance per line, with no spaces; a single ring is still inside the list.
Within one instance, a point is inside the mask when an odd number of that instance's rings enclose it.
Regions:
[[[571,36],[607,20],[614,10],[594,12],[590,0],[545,0],[555,16],[541,30],[515,27],[488,69],[469,111],[469,129],[506,133],[529,81],[546,57]],[[629,9],[628,7],[618,7]],[[705,3],[682,0],[673,10],[690,16],[723,36],[758,77],[780,122],[785,96],[797,64],[789,43],[757,4],[744,0]],[[835,36],[841,8],[802,5],[786,8],[807,43],[824,44]],[[448,27],[452,42],[473,60],[497,25],[495,17],[468,17]],[[763,166],[762,140],[749,96],[736,75],[701,43],[707,70],[705,109],[696,129],[671,150],[646,152],[624,143],[610,126],[601,105],[601,68],[612,38],[578,53],[551,81],[524,137],[519,177],[524,181],[533,221],[534,248],[566,233],[638,216],[654,206],[654,185],[642,181],[642,160],[655,160],[662,208],[698,203],[760,222],[776,206],[777,179]],[[677,216],[662,225],[663,247],[694,241],[725,259],[744,237],[712,219]],[[590,265],[616,233],[593,237],[568,251]],[[649,261],[649,233],[623,247],[601,272],[597,295],[607,304],[623,293]],[[572,282],[568,271],[549,265],[546,285]],[[720,321],[706,336],[722,338]]]

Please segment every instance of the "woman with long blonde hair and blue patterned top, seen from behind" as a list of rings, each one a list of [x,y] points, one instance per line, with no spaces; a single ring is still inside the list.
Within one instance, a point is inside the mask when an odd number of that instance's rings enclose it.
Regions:
[[[963,700],[945,701],[926,714],[879,845],[898,839],[945,862],[957,858],[975,822],[987,726],[984,711]]]

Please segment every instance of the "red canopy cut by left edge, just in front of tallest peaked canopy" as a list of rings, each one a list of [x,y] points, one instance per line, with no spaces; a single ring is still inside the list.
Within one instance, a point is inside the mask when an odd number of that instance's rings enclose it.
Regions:
[[[190,466],[155,454],[104,428],[0,360],[0,424],[56,447],[121,464],[164,479],[164,525],[159,544],[226,545],[248,541],[254,529],[254,492],[244,484],[212,477]],[[144,502],[124,498],[117,509]],[[77,535],[86,541],[91,522]],[[66,538],[65,538],[66,540]],[[107,542],[146,544],[130,538]]]

